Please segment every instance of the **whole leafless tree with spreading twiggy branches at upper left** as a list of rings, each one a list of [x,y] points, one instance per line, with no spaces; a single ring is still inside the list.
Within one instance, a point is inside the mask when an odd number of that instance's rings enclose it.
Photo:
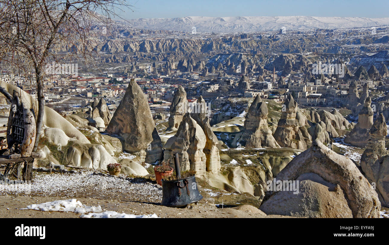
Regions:
[[[35,76],[38,108],[33,151],[44,118],[45,77],[64,70],[71,75],[68,68],[58,70],[52,62],[93,61],[99,36],[110,32],[110,17],[123,7],[130,5],[124,0],[0,0],[0,62]],[[0,92],[11,96],[2,87]]]

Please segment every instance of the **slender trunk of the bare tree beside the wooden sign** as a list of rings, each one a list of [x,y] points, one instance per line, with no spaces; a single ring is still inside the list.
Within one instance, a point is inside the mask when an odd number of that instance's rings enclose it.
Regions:
[[[36,137],[35,137],[35,144],[33,148],[33,152],[36,152],[38,150],[38,144],[39,144],[39,137],[40,137],[40,129],[42,128],[43,124],[43,116],[44,116],[44,107],[45,107],[45,101],[43,96],[43,77],[42,72],[39,67],[35,68],[35,73],[37,76],[37,99],[38,99],[38,114],[36,116],[37,124],[36,124]]]

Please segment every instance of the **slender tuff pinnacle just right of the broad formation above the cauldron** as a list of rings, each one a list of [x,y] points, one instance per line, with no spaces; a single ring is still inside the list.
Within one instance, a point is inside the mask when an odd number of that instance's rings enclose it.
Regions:
[[[207,172],[217,173],[220,170],[220,155],[219,149],[217,148],[219,140],[209,124],[208,108],[203,96],[198,98],[196,106],[198,107],[197,111],[195,110],[194,113],[191,113],[191,117],[201,126],[207,140],[203,150],[206,157],[206,170]]]

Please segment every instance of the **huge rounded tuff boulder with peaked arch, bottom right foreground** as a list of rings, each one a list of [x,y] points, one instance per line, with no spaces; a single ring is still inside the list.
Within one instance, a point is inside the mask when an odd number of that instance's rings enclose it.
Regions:
[[[319,140],[296,156],[277,181],[299,180],[299,193],[272,191],[260,209],[267,215],[378,218],[378,195],[356,165]],[[281,201],[282,200],[282,201]]]

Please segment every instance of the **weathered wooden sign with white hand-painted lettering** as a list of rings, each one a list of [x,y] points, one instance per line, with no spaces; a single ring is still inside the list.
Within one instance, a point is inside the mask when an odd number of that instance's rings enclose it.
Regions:
[[[32,109],[25,108],[19,93],[14,91],[8,117],[7,144],[22,157],[31,155],[35,143],[35,117]]]

